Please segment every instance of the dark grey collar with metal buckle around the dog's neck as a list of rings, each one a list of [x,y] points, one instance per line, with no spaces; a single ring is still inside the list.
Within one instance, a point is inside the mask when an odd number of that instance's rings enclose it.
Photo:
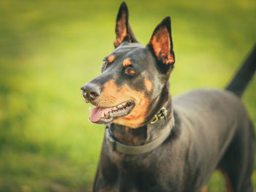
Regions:
[[[166,118],[166,115],[167,115],[167,110],[165,109],[165,107],[162,107],[162,109],[159,110],[159,112],[157,112],[157,115],[154,115],[154,118],[152,118],[150,123],[151,124],[157,123],[157,120]],[[154,139],[153,141],[148,142],[145,145],[129,146],[116,141],[116,139],[114,139],[110,133],[109,126],[106,126],[105,137],[107,140],[107,144],[111,148],[111,150],[116,150],[120,153],[124,153],[127,155],[139,155],[139,154],[147,153],[151,150],[154,150],[163,142],[165,142],[167,137],[169,137],[170,132],[174,127],[174,124],[175,124],[175,121],[174,121],[174,117],[172,116],[170,120],[170,125],[165,126],[165,128],[162,130],[162,134],[159,137],[157,137],[157,139]]]

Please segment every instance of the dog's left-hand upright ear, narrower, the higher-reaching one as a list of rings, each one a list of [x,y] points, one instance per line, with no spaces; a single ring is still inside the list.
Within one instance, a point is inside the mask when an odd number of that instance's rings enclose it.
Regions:
[[[125,2],[123,2],[119,8],[116,18],[116,40],[114,46],[118,47],[122,42],[138,42],[135,35],[132,32],[132,28],[129,26],[129,12]]]

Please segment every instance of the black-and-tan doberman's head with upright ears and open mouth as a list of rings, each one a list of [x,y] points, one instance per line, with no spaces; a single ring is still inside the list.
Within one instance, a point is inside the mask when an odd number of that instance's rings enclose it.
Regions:
[[[128,23],[123,2],[116,19],[115,50],[103,59],[102,74],[83,85],[83,97],[95,107],[93,123],[138,128],[167,101],[168,79],[175,61],[170,17],[162,20],[144,47]]]

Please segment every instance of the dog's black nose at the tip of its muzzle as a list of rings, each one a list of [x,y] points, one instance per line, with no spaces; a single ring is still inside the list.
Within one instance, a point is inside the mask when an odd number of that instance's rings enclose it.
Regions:
[[[87,82],[86,85],[83,85],[81,87],[83,97],[85,99],[97,99],[100,96],[100,93],[102,92],[102,89],[99,85],[96,85],[91,82]]]

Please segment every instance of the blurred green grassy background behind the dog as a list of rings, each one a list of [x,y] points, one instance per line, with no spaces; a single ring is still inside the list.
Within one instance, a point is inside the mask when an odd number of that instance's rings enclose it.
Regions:
[[[80,86],[100,73],[113,50],[120,4],[0,1],[0,191],[90,191],[104,127],[89,123]],[[127,4],[143,45],[171,16],[173,96],[223,88],[256,42],[254,0]],[[254,123],[255,86],[256,79],[243,97]],[[253,183],[256,191],[256,171]],[[224,191],[219,174],[208,191]]]

